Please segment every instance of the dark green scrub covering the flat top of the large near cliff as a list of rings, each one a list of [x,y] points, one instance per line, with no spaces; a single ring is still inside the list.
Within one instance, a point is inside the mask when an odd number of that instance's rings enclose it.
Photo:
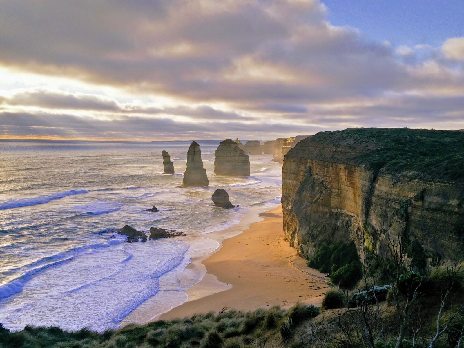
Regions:
[[[431,180],[464,181],[464,131],[460,130],[350,128],[319,132],[302,142],[334,146],[346,163]]]

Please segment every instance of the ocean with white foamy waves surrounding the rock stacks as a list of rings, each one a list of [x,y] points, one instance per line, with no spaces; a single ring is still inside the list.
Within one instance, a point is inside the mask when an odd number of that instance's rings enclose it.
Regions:
[[[208,233],[276,207],[282,185],[271,155],[250,156],[249,177],[216,176],[219,142],[199,143],[204,188],[180,187],[189,142],[0,141],[0,322],[101,332],[147,300],[160,303],[154,316],[187,300],[204,275],[187,265],[219,247]],[[162,174],[162,150],[174,175]],[[238,207],[212,206],[221,187]],[[127,243],[124,225],[187,237]]]

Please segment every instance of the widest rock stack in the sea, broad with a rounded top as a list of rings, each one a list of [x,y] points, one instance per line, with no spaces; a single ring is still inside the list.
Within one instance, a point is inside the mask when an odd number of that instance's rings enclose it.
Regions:
[[[249,176],[250,158],[231,139],[219,143],[214,152],[214,173],[227,176]]]

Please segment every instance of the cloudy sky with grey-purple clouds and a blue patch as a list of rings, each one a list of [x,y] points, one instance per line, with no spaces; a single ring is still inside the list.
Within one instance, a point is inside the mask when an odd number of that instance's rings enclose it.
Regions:
[[[464,129],[463,13],[462,0],[2,0],[0,138]]]

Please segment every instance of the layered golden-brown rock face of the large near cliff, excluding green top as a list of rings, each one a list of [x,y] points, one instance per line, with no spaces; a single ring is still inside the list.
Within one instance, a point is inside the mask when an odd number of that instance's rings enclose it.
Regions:
[[[323,245],[350,240],[363,260],[388,257],[388,238],[396,243],[406,238],[420,251],[408,251],[410,266],[420,255],[422,267],[462,258],[463,180],[434,180],[410,168],[392,170],[389,162],[364,161],[380,151],[377,140],[343,132],[339,138],[323,134],[336,132],[318,133],[285,155],[284,239],[305,258]],[[408,134],[415,136],[406,132],[405,139]]]

